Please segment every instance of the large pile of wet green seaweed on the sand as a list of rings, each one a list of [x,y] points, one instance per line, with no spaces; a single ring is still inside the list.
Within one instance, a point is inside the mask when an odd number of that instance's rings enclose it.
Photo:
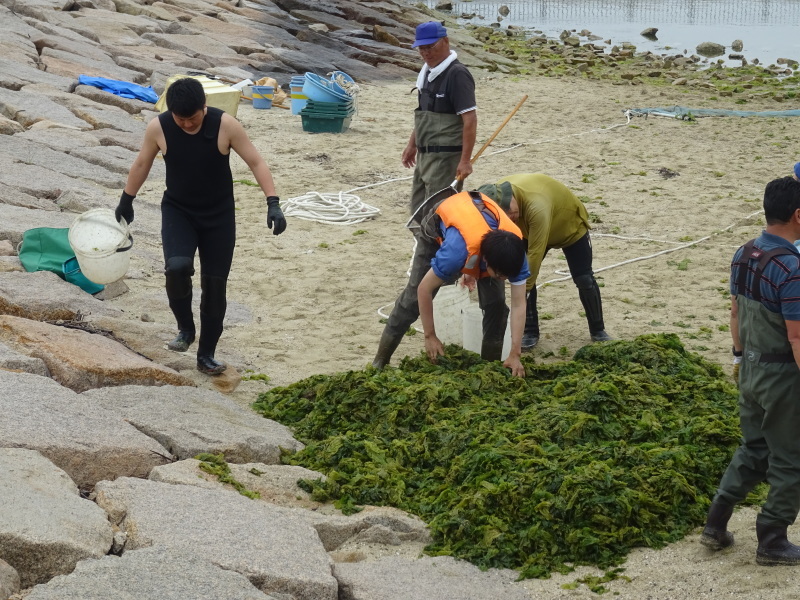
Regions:
[[[736,388],[672,334],[594,344],[525,379],[455,346],[438,365],[317,375],[262,394],[307,447],[285,460],[345,511],[423,518],[427,551],[545,577],[607,568],[702,524],[739,439]]]

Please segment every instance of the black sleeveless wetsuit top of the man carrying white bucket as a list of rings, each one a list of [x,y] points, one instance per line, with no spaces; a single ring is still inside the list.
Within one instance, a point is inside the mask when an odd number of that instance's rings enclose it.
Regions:
[[[167,153],[167,189],[163,201],[197,216],[234,207],[230,154],[217,145],[223,111],[208,107],[200,131],[190,135],[178,127],[170,111],[158,116]]]

